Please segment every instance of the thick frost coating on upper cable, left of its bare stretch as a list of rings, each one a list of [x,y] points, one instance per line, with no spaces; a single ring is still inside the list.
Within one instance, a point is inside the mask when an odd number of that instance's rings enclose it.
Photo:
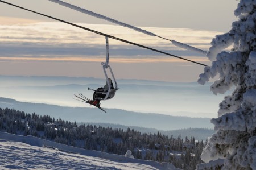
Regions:
[[[48,0],[48,1],[58,3],[59,5],[68,7],[68,8],[70,8],[70,9],[73,9],[73,10],[76,10],[76,11],[80,11],[81,13],[88,14],[88,15],[94,16],[94,17],[96,17],[96,18],[100,18],[100,19],[107,20],[107,21],[109,21],[109,22],[118,24],[119,26],[127,27],[127,28],[133,29],[133,30],[135,30],[135,31],[142,32],[142,33],[147,34],[147,35],[150,35],[150,36],[155,36],[155,34],[152,33],[152,32],[149,32],[149,31],[146,31],[146,30],[142,30],[141,28],[131,26],[130,24],[126,24],[126,23],[123,23],[123,22],[119,22],[118,20],[109,18],[109,17],[107,17],[107,16],[94,13],[93,11],[89,11],[89,10],[86,10],[86,9],[82,9],[81,7],[74,6],[74,5],[72,5],[72,4],[70,4],[70,3],[67,3],[67,2],[63,2],[63,1],[60,1],[60,0]]]

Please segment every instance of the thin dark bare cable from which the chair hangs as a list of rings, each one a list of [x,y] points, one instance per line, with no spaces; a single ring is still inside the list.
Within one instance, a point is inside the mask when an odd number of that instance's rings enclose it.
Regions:
[[[151,50],[151,51],[163,53],[163,54],[165,54],[165,55],[172,56],[172,57],[176,57],[176,58],[181,59],[181,60],[186,60],[186,61],[189,61],[189,62],[192,62],[192,63],[195,63],[195,64],[207,66],[207,65],[205,65],[205,64],[202,64],[202,63],[199,63],[199,62],[196,62],[196,61],[192,61],[192,60],[188,60],[188,59],[185,59],[185,58],[183,58],[183,57],[176,56],[176,55],[172,55],[172,54],[170,54],[170,53],[163,52],[163,51],[160,51],[160,50],[158,50],[158,49],[154,49],[154,48],[150,48],[150,47],[147,47],[147,46],[144,46],[144,45],[141,45],[141,44],[133,43],[133,42],[130,42],[130,41],[128,41],[128,40],[121,39],[121,38],[117,38],[117,37],[115,37],[115,36],[108,35],[108,34],[105,34],[105,33],[103,33],[103,32],[99,32],[99,31],[96,31],[96,30],[92,30],[92,29],[90,29],[90,28],[82,27],[82,26],[80,26],[80,25],[77,25],[77,24],[74,24],[74,23],[71,23],[71,22],[67,22],[67,21],[62,20],[62,19],[58,19],[58,18],[49,16],[49,15],[46,15],[46,14],[38,13],[38,12],[36,12],[36,11],[32,11],[32,10],[26,9],[26,8],[24,8],[24,7],[21,7],[21,6],[14,5],[13,3],[5,2],[5,1],[2,1],[2,0],[0,0],[0,2],[6,3],[7,5],[11,5],[11,6],[14,6],[14,7],[18,7],[19,9],[23,9],[23,10],[26,10],[26,11],[30,11],[31,13],[35,13],[35,14],[39,14],[39,15],[42,15],[42,16],[46,16],[47,18],[51,18],[51,19],[57,20],[57,21],[59,21],[59,22],[66,23],[66,24],[69,24],[69,25],[71,25],[71,26],[81,28],[81,29],[83,29],[83,30],[87,30],[87,31],[90,31],[90,32],[94,32],[95,34],[99,34],[99,35],[102,35],[102,36],[105,36],[105,37],[108,37],[108,38],[112,38],[112,39],[118,40],[118,41],[120,41],[120,42],[124,42],[124,43],[128,43],[128,44],[136,45],[136,46],[138,46],[138,47],[142,47],[142,48],[149,49],[149,50]]]

